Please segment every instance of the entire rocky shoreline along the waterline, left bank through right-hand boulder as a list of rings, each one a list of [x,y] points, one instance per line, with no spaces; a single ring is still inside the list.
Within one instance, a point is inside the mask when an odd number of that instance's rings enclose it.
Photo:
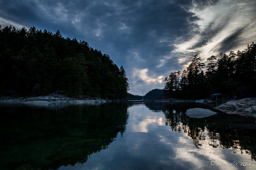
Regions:
[[[0,97],[0,103],[21,103],[31,105],[48,106],[50,104],[102,104],[106,102],[128,102],[128,99],[101,99],[100,97],[66,97],[64,95],[46,95],[37,97]],[[130,100],[133,101],[133,100]],[[136,100],[135,100],[136,101]],[[212,103],[209,100],[192,99],[144,99],[137,102],[202,102]],[[240,114],[242,116],[256,117],[256,97],[244,98],[235,101],[224,102],[214,109],[228,114]]]

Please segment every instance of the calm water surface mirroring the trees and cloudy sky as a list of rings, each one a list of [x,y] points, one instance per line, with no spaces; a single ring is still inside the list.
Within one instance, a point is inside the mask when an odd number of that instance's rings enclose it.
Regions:
[[[198,107],[211,108],[188,102],[0,103],[0,169],[256,169],[256,118],[186,116]]]

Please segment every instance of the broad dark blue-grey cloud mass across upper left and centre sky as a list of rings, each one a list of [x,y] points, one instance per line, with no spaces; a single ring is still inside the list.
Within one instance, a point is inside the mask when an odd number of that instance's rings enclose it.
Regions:
[[[182,9],[183,6],[190,6],[191,2],[5,1],[1,3],[1,15],[26,26],[63,29],[65,35],[71,31],[70,28],[76,28],[94,46],[110,43],[106,47],[121,51],[137,49],[139,55],[146,54],[148,59],[157,59],[174,50],[170,44],[175,38],[186,40],[188,33],[191,35],[191,30],[198,27],[191,22],[199,18]],[[196,4],[205,6],[212,4],[212,1],[196,1]],[[68,36],[76,36],[75,32]]]

